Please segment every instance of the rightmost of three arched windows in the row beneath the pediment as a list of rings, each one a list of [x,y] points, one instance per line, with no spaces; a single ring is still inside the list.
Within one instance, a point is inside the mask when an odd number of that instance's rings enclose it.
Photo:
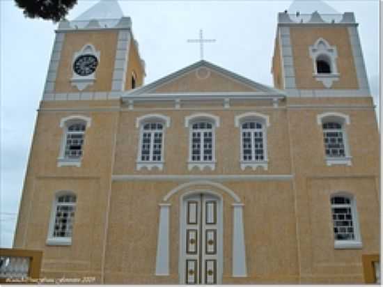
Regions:
[[[235,126],[240,127],[240,164],[255,170],[258,166],[267,169],[267,126],[269,116],[245,113],[235,116]]]

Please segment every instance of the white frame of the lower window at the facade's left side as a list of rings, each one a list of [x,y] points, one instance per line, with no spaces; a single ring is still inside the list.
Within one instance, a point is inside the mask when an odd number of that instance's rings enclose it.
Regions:
[[[58,198],[60,196],[65,196],[65,195],[75,196],[76,197],[75,203],[59,203]],[[48,235],[47,235],[46,244],[47,245],[72,245],[74,221],[73,221],[73,225],[72,225],[72,236],[70,236],[70,237],[55,237],[54,236],[54,225],[56,222],[56,208],[58,205],[75,205],[75,216],[76,216],[77,194],[75,194],[74,192],[70,192],[70,191],[60,191],[60,192],[56,192],[56,194],[54,195],[54,201],[52,204],[52,212],[51,212],[51,216],[49,219],[49,228],[48,228]]]

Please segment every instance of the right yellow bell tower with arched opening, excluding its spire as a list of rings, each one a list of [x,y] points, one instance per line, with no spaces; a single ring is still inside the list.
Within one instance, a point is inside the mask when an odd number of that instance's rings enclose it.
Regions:
[[[370,96],[354,13],[279,13],[272,74],[290,97]]]

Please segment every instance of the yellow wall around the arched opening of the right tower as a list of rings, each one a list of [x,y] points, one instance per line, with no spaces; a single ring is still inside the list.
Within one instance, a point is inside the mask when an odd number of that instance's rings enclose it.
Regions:
[[[354,56],[350,35],[347,27],[290,27],[290,41],[292,46],[292,58],[294,59],[295,85],[297,88],[321,89],[325,88],[322,82],[313,77],[313,59],[309,54],[309,47],[315,44],[318,38],[323,38],[329,45],[336,46],[338,58],[339,79],[331,88],[334,89],[357,89],[357,72],[354,66]]]

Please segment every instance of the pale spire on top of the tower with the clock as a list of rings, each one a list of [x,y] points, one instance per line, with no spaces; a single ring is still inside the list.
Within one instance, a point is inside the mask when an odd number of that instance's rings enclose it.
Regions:
[[[117,0],[100,0],[94,6],[79,15],[75,21],[120,19],[123,16],[123,10],[121,10]]]

